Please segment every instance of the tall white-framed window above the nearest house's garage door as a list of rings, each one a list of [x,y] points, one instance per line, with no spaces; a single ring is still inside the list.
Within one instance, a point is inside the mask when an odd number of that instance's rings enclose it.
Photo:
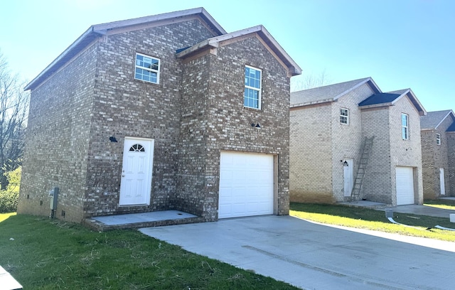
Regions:
[[[261,109],[261,77],[262,70],[245,66],[245,91],[243,93],[243,106]]]

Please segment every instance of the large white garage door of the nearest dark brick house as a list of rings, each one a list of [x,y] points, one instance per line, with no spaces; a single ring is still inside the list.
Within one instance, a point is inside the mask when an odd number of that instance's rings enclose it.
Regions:
[[[221,152],[218,218],[273,213],[273,156]]]

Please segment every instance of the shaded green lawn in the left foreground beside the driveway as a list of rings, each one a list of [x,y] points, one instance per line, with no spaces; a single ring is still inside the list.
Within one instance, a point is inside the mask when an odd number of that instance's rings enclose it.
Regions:
[[[296,289],[137,230],[28,215],[0,215],[0,265],[24,289]]]

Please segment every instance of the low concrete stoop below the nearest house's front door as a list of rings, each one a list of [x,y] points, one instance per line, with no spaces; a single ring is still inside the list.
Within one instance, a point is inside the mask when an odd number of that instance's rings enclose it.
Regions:
[[[161,227],[205,222],[205,219],[178,210],[164,210],[150,213],[132,213],[86,218],[82,225],[97,232],[107,230],[136,229],[140,227]]]

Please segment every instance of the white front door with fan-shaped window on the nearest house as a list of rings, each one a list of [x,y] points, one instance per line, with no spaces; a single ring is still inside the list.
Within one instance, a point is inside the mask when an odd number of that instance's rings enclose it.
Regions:
[[[154,140],[125,137],[119,205],[149,205]]]

